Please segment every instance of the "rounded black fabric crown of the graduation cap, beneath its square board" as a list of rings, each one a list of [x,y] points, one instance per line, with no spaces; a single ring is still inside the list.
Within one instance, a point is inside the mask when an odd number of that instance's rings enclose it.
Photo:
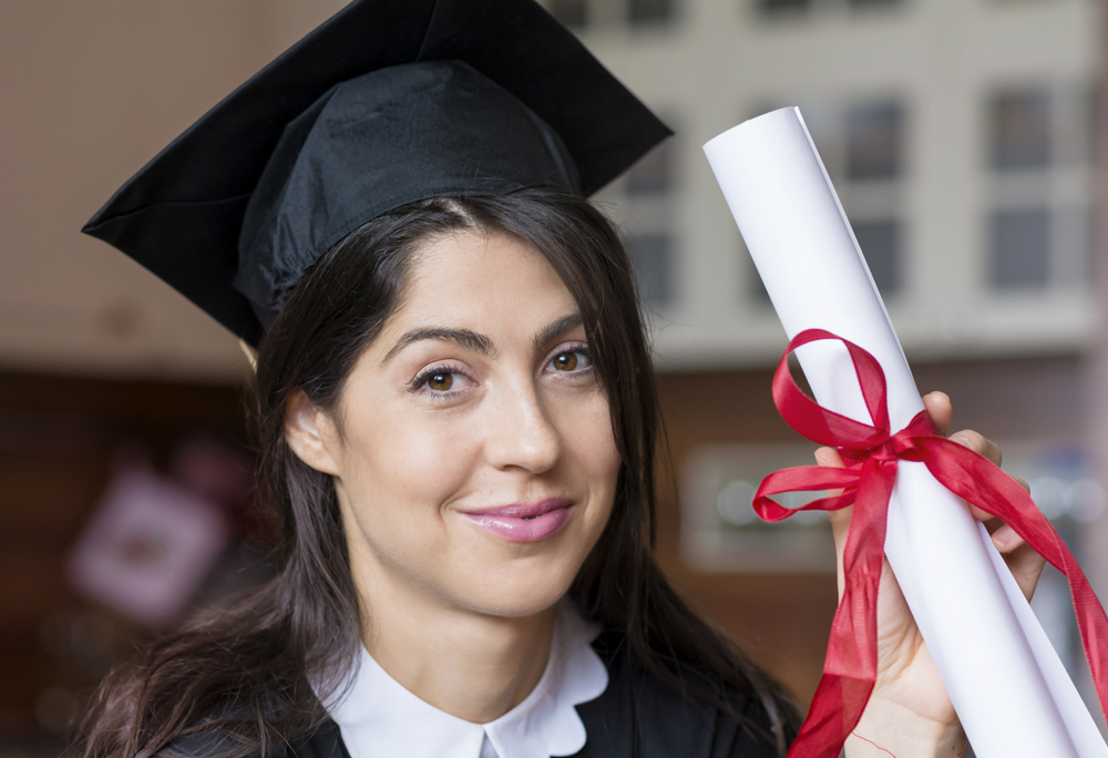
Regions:
[[[358,76],[286,126],[246,208],[235,288],[268,325],[300,275],[367,221],[425,197],[534,186],[578,192],[573,157],[468,63]]]

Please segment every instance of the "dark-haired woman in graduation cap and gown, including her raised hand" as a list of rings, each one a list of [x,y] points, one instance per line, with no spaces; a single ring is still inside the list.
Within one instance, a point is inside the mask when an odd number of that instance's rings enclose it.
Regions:
[[[257,344],[281,550],[271,583],[105,682],[86,756],[784,754],[794,707],[653,554],[649,354],[585,196],[665,133],[530,0],[358,2],[98,214]],[[1042,561],[997,526],[1029,593]],[[848,755],[956,755],[883,583]]]

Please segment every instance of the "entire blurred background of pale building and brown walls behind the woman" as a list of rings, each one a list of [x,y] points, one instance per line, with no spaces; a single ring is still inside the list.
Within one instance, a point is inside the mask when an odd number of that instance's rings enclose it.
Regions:
[[[78,231],[342,4],[0,0],[0,758],[57,755],[113,662],[270,571],[236,340]],[[811,698],[830,531],[757,523],[749,503],[813,445],[772,406],[784,335],[700,152],[783,105],[802,109],[920,389],[1002,444],[1108,596],[1101,3],[545,4],[677,132],[598,199],[650,317],[674,458],[659,542],[690,602]],[[1048,572],[1034,606],[1089,694],[1065,581]]]

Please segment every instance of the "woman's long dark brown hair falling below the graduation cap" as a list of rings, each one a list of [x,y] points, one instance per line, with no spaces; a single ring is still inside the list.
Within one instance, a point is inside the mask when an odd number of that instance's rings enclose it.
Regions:
[[[420,247],[456,231],[507,232],[542,253],[577,301],[608,397],[622,467],[611,519],[572,598],[671,686],[727,709],[727,687],[759,701],[772,734],[737,716],[784,755],[799,723],[796,707],[686,606],[654,556],[660,420],[624,247],[587,199],[534,188],[406,205],[338,243],[291,289],[259,345],[249,403],[260,500],[280,537],[278,573],[110,675],[79,727],[84,758],[147,758],[211,730],[220,736],[213,758],[265,755],[326,718],[309,682],[337,683],[352,665],[359,603],[334,484],[289,449],[286,407],[302,389],[317,407],[336,409],[355,361],[399,304]],[[712,686],[695,685],[683,669]],[[335,686],[319,697],[334,695]]]

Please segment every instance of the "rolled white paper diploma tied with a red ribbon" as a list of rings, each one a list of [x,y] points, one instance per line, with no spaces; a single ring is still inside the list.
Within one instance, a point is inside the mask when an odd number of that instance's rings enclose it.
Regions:
[[[923,403],[831,181],[798,109],[704,146],[791,339],[827,329],[869,350],[893,431]],[[825,408],[872,423],[845,348],[797,357]],[[1108,757],[1108,746],[985,529],[923,463],[901,461],[885,555],[979,758]]]

